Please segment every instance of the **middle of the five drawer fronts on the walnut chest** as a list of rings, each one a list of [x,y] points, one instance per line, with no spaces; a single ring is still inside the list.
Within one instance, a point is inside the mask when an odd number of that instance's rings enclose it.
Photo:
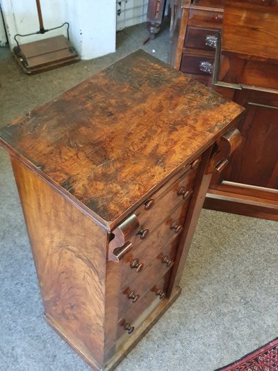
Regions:
[[[174,239],[178,239],[183,229],[186,219],[189,200],[179,205],[177,209],[168,215],[163,222],[149,234],[145,241],[133,244],[129,253],[124,255],[121,260],[122,281],[121,287],[126,287],[130,282],[135,281],[149,266],[149,263],[163,249],[166,244],[170,244]]]

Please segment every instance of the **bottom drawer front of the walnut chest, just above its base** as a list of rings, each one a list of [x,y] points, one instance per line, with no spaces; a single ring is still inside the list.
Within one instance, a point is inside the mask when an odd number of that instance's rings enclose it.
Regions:
[[[163,297],[163,292],[167,290],[170,274],[171,271],[167,272],[163,278],[152,285],[151,289],[138,301],[137,305],[131,308],[131,310],[124,315],[124,318],[120,319],[117,323],[117,338],[120,338],[120,340],[117,341],[116,347],[132,336],[138,326],[140,326],[161,301],[165,299],[165,297]]]

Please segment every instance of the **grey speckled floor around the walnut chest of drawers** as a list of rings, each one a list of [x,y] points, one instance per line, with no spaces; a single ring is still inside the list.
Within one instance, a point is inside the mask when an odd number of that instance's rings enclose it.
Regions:
[[[117,52],[26,76],[0,61],[0,126],[129,54],[145,25],[117,34]],[[167,59],[169,32],[146,46]],[[0,51],[1,52],[1,51]],[[8,156],[0,150],[0,370],[85,371],[42,319],[35,267]],[[203,210],[170,310],[117,368],[212,371],[278,336],[277,223]]]

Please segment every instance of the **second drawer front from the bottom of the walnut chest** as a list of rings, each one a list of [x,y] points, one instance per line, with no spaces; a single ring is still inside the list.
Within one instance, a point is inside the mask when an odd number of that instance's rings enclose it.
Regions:
[[[136,281],[131,281],[127,287],[122,289],[119,301],[119,318],[122,318],[124,313],[131,308],[140,306],[140,301],[147,290],[172,268],[177,253],[177,244],[178,240],[175,239],[172,244],[163,248],[145,271],[138,275]]]

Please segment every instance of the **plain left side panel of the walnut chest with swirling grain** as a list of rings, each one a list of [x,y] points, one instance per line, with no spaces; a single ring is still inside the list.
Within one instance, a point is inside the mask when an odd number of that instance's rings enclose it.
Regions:
[[[47,317],[104,361],[107,233],[42,178],[12,159]]]

